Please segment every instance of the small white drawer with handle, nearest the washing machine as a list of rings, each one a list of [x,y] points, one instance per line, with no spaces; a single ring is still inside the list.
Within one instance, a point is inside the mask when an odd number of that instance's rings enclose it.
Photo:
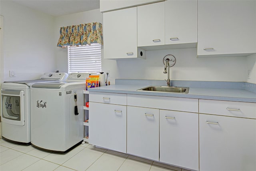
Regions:
[[[127,104],[127,95],[120,93],[102,93],[102,92],[90,92],[90,101],[98,103],[109,103],[117,105]]]

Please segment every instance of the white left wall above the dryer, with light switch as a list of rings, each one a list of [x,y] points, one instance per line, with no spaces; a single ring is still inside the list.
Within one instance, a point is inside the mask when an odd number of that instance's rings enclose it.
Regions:
[[[54,72],[54,18],[12,1],[1,1],[0,12],[4,16],[2,81],[33,80]],[[16,77],[9,77],[9,70]]]

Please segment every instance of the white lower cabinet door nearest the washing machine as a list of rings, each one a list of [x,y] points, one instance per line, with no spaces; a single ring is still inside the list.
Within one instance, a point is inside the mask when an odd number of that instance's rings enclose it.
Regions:
[[[126,106],[90,102],[90,144],[126,153]]]

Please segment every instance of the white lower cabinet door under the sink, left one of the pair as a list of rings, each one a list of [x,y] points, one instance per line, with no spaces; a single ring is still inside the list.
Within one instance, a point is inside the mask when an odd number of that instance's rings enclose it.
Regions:
[[[127,153],[159,160],[159,109],[127,107]]]

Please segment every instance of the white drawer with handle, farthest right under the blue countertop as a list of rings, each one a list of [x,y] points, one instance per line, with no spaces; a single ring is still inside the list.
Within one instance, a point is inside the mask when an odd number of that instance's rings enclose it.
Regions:
[[[256,103],[199,99],[199,113],[256,119]]]

